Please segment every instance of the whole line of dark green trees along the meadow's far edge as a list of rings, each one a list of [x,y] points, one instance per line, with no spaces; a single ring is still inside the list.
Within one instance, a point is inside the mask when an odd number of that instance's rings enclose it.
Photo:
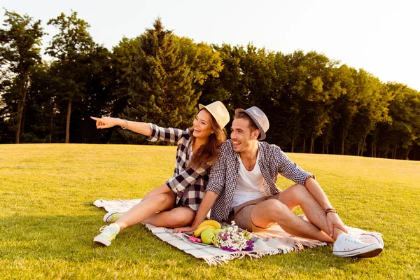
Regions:
[[[90,116],[186,128],[197,103],[221,100],[267,114],[267,142],[294,153],[420,160],[420,92],[382,83],[318,52],[284,54],[195,43],[160,19],[112,50],[95,43],[77,13],[42,59],[41,21],[6,10],[0,29],[0,143],[145,144],[125,130],[96,130]]]

